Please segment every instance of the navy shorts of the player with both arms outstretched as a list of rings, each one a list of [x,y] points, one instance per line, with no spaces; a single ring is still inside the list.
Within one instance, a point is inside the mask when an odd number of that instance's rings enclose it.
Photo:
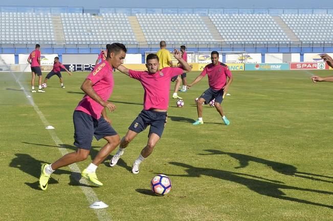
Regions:
[[[150,125],[149,134],[154,133],[162,137],[162,133],[167,121],[167,112],[153,110],[142,110],[138,117],[129,126],[129,130],[136,133],[144,131]]]

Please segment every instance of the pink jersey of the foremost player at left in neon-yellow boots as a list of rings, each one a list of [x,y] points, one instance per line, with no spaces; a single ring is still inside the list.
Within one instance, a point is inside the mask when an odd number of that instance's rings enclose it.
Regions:
[[[93,89],[103,99],[107,101],[112,94],[114,87],[113,68],[106,61],[96,65],[86,79],[93,82]],[[90,96],[84,95],[75,110],[82,111],[99,119],[103,106],[94,101]]]

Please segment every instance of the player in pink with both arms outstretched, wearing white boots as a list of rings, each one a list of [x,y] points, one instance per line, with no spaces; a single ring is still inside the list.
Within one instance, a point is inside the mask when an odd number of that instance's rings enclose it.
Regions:
[[[110,160],[110,166],[117,164],[119,158],[124,154],[126,146],[150,125],[147,145],[142,149],[139,157],[132,165],[132,173],[138,174],[140,163],[152,153],[155,145],[160,140],[167,119],[170,79],[181,75],[184,70],[191,70],[188,63],[182,59],[180,51],[174,50],[173,56],[183,65],[183,68],[164,67],[160,69],[159,57],[155,54],[149,54],[146,58],[148,71],[129,70],[123,65],[117,68],[130,78],[140,81],[145,93],[143,110],[129,126],[126,135],[121,139],[119,150]]]

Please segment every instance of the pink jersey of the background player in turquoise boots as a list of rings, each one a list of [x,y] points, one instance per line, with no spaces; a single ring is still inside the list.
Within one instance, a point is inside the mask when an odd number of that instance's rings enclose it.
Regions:
[[[201,72],[202,76],[208,75],[208,84],[214,90],[220,90],[227,84],[227,76],[232,76],[228,66],[219,62],[217,65],[212,63],[206,65],[204,70]]]

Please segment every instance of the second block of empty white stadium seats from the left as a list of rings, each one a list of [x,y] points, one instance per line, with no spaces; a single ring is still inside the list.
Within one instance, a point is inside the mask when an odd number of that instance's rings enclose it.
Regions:
[[[61,21],[66,44],[137,43],[124,14],[61,13]]]

